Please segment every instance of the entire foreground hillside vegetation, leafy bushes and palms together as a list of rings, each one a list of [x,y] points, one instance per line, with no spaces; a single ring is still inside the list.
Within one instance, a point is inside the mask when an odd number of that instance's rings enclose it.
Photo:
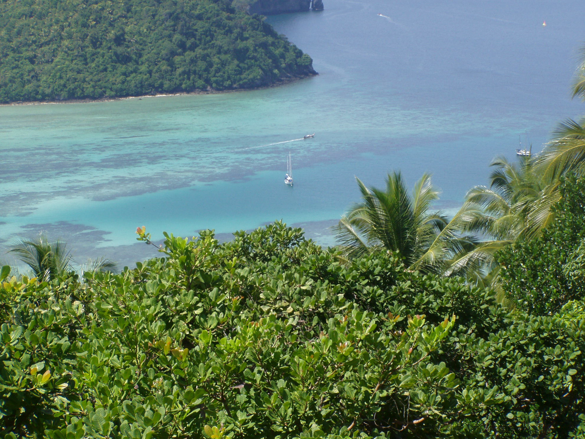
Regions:
[[[584,438],[585,117],[490,166],[452,217],[428,174],[357,179],[333,248],[142,226],[153,257],[118,270],[15,242],[0,437]]]

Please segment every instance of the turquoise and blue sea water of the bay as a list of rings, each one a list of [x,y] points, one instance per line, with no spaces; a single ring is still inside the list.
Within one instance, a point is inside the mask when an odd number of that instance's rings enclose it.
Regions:
[[[438,207],[455,208],[519,134],[538,149],[583,112],[569,86],[584,6],[438,3],[329,0],[270,17],[320,73],[281,87],[0,107],[0,249],[44,230],[80,261],[130,264],[152,254],[139,225],[226,239],[274,219],[331,245],[354,176],[380,185],[393,169],[409,183],[432,172]]]

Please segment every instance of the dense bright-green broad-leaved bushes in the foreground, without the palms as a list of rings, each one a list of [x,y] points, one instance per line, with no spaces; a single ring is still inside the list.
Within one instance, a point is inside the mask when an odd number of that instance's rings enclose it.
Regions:
[[[582,188],[567,180],[563,200],[582,208]],[[570,215],[550,233],[582,232]],[[583,290],[554,313],[530,306],[536,294],[504,306],[393,252],[347,260],[279,222],[226,243],[165,236],[163,258],[118,275],[41,282],[3,267],[2,437],[585,434]]]

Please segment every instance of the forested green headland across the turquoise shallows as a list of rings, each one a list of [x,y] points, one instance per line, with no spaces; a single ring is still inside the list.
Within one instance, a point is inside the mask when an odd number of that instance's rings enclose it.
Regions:
[[[222,0],[0,2],[0,102],[270,85],[307,54]]]

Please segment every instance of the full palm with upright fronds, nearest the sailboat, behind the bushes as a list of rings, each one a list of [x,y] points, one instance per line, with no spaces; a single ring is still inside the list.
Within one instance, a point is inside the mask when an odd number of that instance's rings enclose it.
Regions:
[[[473,236],[459,231],[480,211],[469,203],[451,221],[440,212],[429,212],[439,194],[429,174],[415,184],[412,195],[400,172],[388,174],[385,190],[356,180],[362,202],[333,227],[349,258],[387,249],[400,255],[409,269],[441,272],[446,261],[476,246]]]

